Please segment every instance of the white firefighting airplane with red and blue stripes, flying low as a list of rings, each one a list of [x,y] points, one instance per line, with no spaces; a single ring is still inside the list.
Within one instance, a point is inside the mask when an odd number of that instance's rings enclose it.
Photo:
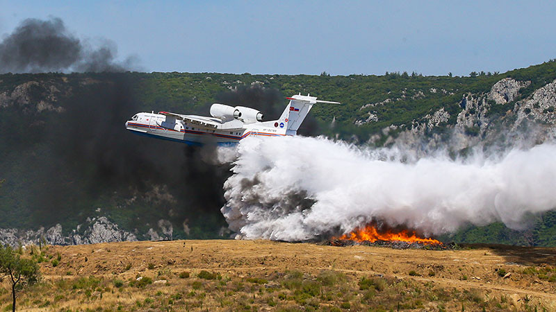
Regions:
[[[250,107],[215,103],[211,117],[174,114],[171,112],[140,112],[126,121],[127,130],[138,135],[179,141],[189,145],[215,143],[236,144],[245,137],[279,137],[296,135],[305,116],[316,103],[340,104],[318,101],[315,96],[297,94],[278,120],[263,121],[263,114]]]

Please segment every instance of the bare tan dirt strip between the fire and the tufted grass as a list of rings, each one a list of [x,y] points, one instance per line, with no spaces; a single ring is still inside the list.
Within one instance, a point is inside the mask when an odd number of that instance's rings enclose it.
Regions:
[[[356,281],[385,276],[456,291],[478,289],[486,297],[507,298],[509,311],[520,311],[523,304],[532,300],[546,311],[556,311],[556,269],[553,279],[545,274],[556,266],[556,248],[468,245],[459,250],[395,250],[361,245],[210,240],[50,246],[48,253],[59,254],[60,263],[56,267],[50,261],[41,263],[46,281],[88,276],[124,281],[151,276],[156,280],[156,272],[163,269],[192,275],[207,270],[232,277],[270,277],[288,270],[318,275],[323,270],[333,270]],[[505,272],[503,276],[499,271]]]

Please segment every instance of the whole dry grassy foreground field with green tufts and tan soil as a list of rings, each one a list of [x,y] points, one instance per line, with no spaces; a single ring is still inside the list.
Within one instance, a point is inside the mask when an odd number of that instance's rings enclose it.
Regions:
[[[556,248],[272,241],[27,248],[21,311],[556,311]],[[0,309],[10,309],[4,281]]]

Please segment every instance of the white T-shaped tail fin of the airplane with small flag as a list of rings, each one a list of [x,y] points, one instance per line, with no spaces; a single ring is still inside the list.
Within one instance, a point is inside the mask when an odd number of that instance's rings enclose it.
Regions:
[[[309,96],[309,94],[306,96],[296,94],[287,99],[290,100],[290,103],[280,116],[280,121],[286,123],[286,135],[297,134],[297,130],[300,128],[305,116],[309,114],[309,111],[316,103],[340,104],[339,102],[318,101],[316,96]]]

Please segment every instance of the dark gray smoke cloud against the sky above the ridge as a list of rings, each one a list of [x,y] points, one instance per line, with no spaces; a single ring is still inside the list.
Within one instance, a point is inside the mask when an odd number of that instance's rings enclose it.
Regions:
[[[91,46],[67,31],[60,18],[25,19],[0,43],[0,73],[117,72],[133,66],[133,58],[118,62],[116,55],[112,42]]]

